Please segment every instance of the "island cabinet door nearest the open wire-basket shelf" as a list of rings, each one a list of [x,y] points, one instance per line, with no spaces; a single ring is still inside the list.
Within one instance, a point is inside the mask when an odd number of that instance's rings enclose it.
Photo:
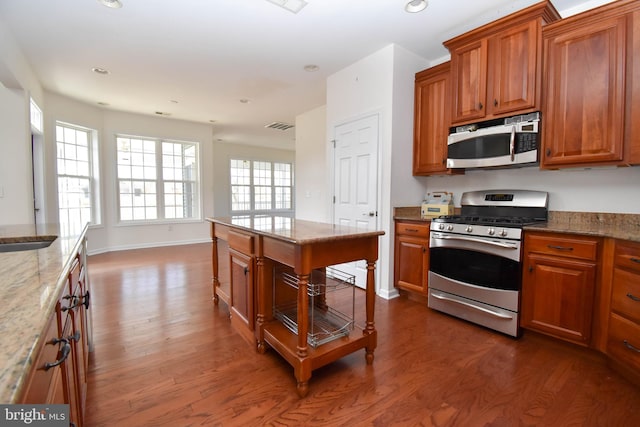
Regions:
[[[254,329],[253,258],[229,249],[231,265],[231,317],[250,330]]]

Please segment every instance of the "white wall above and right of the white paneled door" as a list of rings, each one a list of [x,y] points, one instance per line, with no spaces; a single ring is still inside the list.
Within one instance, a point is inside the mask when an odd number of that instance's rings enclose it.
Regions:
[[[392,207],[410,200],[410,194],[420,191],[420,183],[413,180],[410,173],[413,87],[415,73],[427,66],[424,58],[389,45],[327,79],[329,139],[333,138],[334,128],[339,124],[370,114],[378,114],[380,119],[378,228],[385,235],[379,241],[377,293],[385,298],[397,295],[393,287]],[[302,156],[299,154],[300,159]],[[326,157],[331,161],[330,148]],[[304,165],[311,161],[316,160],[307,159],[299,169],[304,170]],[[331,178],[328,181],[332,182]],[[330,212],[331,205],[328,209]]]

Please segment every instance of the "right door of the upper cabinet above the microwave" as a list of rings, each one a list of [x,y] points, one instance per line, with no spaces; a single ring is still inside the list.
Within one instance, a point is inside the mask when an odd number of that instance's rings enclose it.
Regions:
[[[535,110],[540,90],[539,24],[518,25],[493,37],[489,45],[487,111],[492,115]]]

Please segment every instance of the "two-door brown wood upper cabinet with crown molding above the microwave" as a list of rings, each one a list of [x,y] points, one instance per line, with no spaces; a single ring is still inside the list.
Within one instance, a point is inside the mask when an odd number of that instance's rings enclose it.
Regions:
[[[548,1],[446,41],[453,124],[540,109],[541,27],[560,19]]]

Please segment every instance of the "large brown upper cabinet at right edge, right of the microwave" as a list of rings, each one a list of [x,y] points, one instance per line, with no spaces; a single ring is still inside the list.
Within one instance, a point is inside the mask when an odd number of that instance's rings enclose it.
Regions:
[[[640,162],[637,10],[618,1],[544,28],[541,167]]]

